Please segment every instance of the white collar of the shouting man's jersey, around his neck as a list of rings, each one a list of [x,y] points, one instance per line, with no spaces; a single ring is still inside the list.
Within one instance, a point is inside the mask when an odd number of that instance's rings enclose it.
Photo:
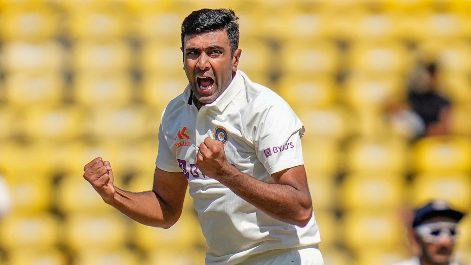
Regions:
[[[227,105],[235,98],[235,96],[242,90],[244,86],[244,77],[241,75],[242,71],[237,70],[235,72],[235,76],[232,79],[231,83],[227,87],[226,91],[222,92],[222,94],[213,102],[206,104],[205,106],[216,107],[219,111],[223,111]],[[193,100],[193,91],[191,91],[190,85],[188,84],[183,92],[183,100],[185,100],[188,104],[192,105]]]

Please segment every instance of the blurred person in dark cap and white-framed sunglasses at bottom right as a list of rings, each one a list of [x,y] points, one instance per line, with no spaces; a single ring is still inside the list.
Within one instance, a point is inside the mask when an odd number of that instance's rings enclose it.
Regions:
[[[395,265],[458,265],[452,262],[458,222],[464,214],[443,200],[434,200],[414,210],[413,237],[419,255]]]

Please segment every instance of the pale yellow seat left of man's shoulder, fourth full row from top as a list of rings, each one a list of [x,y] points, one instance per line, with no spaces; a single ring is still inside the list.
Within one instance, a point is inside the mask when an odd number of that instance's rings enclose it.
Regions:
[[[146,133],[146,116],[138,106],[95,108],[89,116],[89,132],[101,139],[136,140]]]

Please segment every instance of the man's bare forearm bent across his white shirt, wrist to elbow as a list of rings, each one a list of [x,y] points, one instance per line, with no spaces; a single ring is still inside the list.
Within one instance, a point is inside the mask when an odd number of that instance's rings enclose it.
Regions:
[[[308,194],[288,184],[261,182],[233,168],[219,182],[271,217],[289,224],[305,226],[312,215]]]

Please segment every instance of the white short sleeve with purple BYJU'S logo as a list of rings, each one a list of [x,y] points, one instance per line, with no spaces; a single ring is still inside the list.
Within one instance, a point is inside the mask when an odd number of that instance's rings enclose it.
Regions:
[[[256,133],[257,157],[268,173],[304,164],[304,126],[287,103],[269,108]]]

